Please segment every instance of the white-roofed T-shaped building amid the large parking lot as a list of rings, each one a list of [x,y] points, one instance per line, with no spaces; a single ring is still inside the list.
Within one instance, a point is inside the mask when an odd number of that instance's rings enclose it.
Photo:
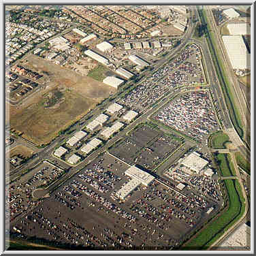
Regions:
[[[116,192],[116,196],[121,199],[125,199],[139,185],[142,184],[147,187],[155,179],[154,176],[142,171],[135,165],[129,167],[125,175],[129,176],[131,180]]]

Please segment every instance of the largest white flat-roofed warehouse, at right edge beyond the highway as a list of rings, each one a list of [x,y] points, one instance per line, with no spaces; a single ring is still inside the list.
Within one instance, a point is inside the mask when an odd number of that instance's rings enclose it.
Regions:
[[[223,35],[222,39],[233,69],[250,69],[250,54],[242,35]]]

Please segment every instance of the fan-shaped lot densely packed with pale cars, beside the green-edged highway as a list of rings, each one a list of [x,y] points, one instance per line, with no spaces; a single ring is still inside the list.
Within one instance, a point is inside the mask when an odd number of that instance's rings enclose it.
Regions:
[[[205,144],[208,135],[219,129],[212,103],[205,91],[180,96],[163,107],[155,119]]]

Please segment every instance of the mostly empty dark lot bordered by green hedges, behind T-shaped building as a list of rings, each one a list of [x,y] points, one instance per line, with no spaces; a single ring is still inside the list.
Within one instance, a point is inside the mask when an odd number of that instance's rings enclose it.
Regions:
[[[131,165],[138,164],[154,170],[181,142],[182,138],[176,135],[168,136],[149,125],[139,125],[124,140],[110,148],[109,152]]]

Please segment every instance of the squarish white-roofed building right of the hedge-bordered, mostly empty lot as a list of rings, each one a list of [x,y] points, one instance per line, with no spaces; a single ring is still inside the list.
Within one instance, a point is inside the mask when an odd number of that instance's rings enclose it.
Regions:
[[[185,165],[196,174],[199,174],[204,169],[204,167],[208,165],[208,161],[202,159],[202,157],[200,157],[196,152],[193,152],[185,157],[181,164]]]

